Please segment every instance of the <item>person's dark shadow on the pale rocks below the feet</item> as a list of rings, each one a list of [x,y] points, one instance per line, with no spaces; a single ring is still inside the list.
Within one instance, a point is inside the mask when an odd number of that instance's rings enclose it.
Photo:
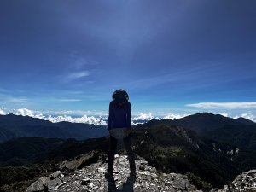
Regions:
[[[108,180],[108,192],[133,192],[133,184],[135,177],[127,177],[126,182],[122,185],[121,189],[117,189],[114,181]]]

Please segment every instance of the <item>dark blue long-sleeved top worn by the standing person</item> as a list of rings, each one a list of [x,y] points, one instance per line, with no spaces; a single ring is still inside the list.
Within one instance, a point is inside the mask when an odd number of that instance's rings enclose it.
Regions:
[[[131,103],[125,102],[125,108],[115,108],[115,102],[109,103],[108,130],[115,128],[131,129]]]

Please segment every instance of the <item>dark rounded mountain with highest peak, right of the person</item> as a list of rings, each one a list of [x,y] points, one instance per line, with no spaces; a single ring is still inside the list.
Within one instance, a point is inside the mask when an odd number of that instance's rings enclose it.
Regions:
[[[182,119],[153,119],[138,128],[156,125],[176,125],[195,131],[219,143],[232,143],[239,148],[256,150],[256,123],[245,118],[232,119],[220,114],[196,113]]]

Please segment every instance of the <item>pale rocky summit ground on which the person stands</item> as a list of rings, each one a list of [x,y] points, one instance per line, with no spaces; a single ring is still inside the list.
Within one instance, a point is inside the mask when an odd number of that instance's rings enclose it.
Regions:
[[[154,192],[154,191],[201,191],[189,182],[187,176],[176,173],[160,173],[148,161],[136,160],[137,177],[130,177],[127,156],[116,154],[113,166],[114,181],[105,178],[108,164],[102,160],[85,166],[64,176],[60,171],[49,177],[41,177],[26,189],[33,191],[123,191],[123,192]]]

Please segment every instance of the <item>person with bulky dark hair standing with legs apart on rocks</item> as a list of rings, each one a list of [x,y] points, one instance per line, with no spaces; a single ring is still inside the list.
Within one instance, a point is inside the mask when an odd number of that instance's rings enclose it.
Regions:
[[[131,103],[125,90],[115,90],[109,103],[108,131],[110,150],[108,153],[107,178],[113,177],[114,154],[119,140],[125,143],[130,165],[130,176],[136,177],[135,156],[131,148]]]

